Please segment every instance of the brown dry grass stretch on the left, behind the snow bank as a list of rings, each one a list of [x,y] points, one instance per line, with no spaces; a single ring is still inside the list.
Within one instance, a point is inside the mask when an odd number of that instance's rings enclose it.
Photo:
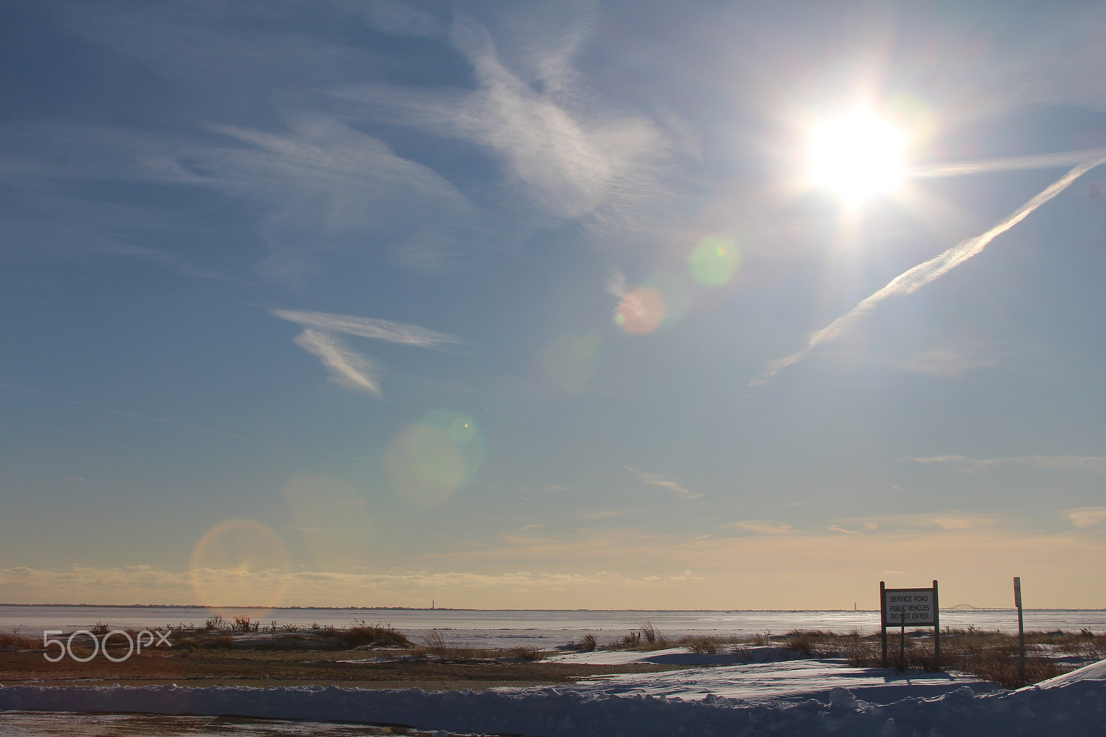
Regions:
[[[93,632],[96,629],[90,627]],[[62,639],[67,637],[66,633]],[[135,636],[136,632],[129,632]],[[536,647],[508,651],[465,647],[431,631],[415,643],[387,624],[355,622],[347,630],[289,627],[275,623],[209,621],[205,627],[176,627],[171,647],[147,647],[122,662],[103,656],[87,662],[43,657],[41,639],[18,632],[0,634],[0,684],[3,685],[158,685],[180,686],[345,686],[426,691],[480,691],[497,686],[567,684],[595,675],[651,673],[679,666],[654,664],[592,665],[542,663]],[[85,642],[82,642],[85,641]],[[117,641],[117,642],[116,642]],[[79,636],[77,657],[94,653]],[[125,640],[112,652],[122,657]],[[50,654],[56,654],[51,650]]]

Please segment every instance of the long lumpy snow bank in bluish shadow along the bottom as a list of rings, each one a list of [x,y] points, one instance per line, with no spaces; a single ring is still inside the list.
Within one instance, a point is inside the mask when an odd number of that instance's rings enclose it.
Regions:
[[[1094,668],[1099,668],[1095,671]],[[1106,734],[1106,664],[1089,677],[1016,692],[942,696],[878,706],[847,688],[799,704],[588,693],[576,686],[479,693],[177,686],[0,687],[0,710],[234,714],[271,718],[407,724],[424,729],[554,737],[849,735],[1018,737]],[[1097,675],[1096,675],[1097,674]]]

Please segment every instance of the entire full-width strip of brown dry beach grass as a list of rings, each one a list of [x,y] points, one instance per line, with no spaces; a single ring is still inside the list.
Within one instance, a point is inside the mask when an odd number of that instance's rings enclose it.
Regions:
[[[103,627],[91,627],[101,632]],[[135,635],[136,633],[131,633]],[[86,640],[86,639],[85,639]],[[122,636],[112,652],[122,654]],[[171,647],[147,647],[140,654],[112,662],[102,656],[81,663],[43,657],[42,642],[19,632],[0,633],[0,683],[41,685],[342,685],[366,688],[425,689],[554,685],[612,673],[657,672],[685,666],[655,664],[592,665],[550,663],[549,651],[535,646],[505,651],[466,647],[431,630],[414,642],[388,624],[356,621],[345,630],[291,627],[275,622],[261,626],[249,621],[212,620],[205,627],[176,627]],[[905,667],[935,671],[931,631],[911,631],[905,639]],[[73,642],[74,654],[86,657],[92,643]],[[878,634],[842,634],[817,630],[785,635],[669,637],[648,622],[606,645],[606,650],[649,652],[686,647],[695,653],[730,652],[740,660],[750,647],[775,645],[813,657],[838,657],[858,667],[880,666]],[[566,645],[581,652],[602,648],[585,634]],[[970,673],[1006,687],[1021,685],[1016,635],[946,629],[941,634],[941,669]],[[1106,635],[1088,631],[1026,633],[1025,683],[1036,683],[1106,658]],[[54,651],[52,651],[54,652]],[[897,633],[888,632],[889,664],[901,667]]]

